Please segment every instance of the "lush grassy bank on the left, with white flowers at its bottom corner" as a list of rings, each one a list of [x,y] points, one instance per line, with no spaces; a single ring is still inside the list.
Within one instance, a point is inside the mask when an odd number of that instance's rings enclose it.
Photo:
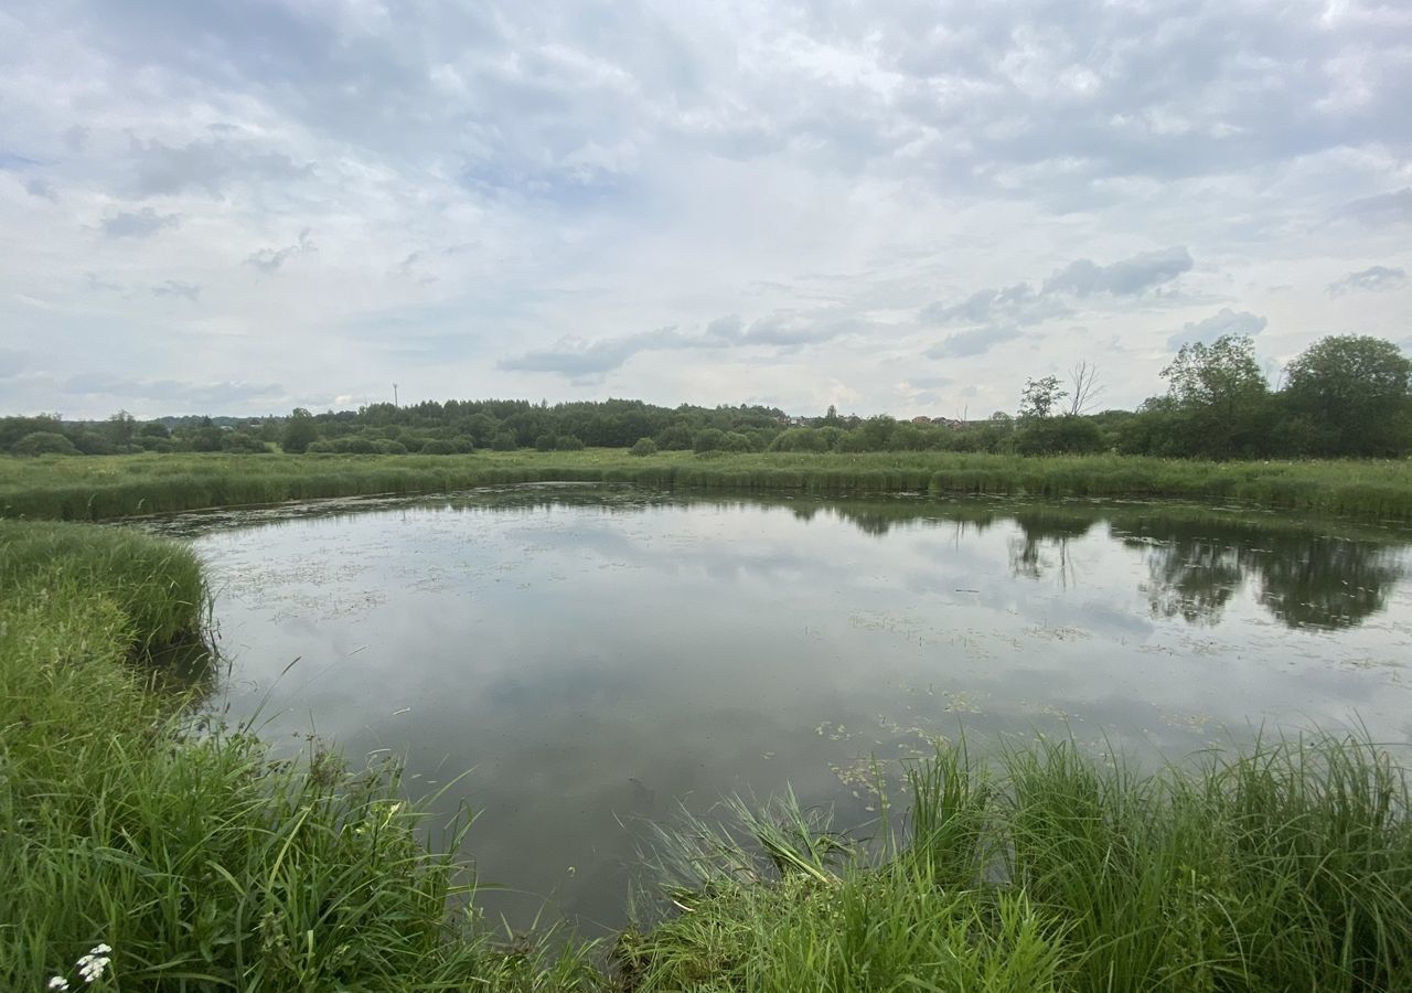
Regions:
[[[507,955],[448,914],[466,874],[418,842],[395,775],[188,736],[145,689],[147,653],[203,603],[179,545],[0,523],[0,987],[79,987],[75,963],[100,944],[104,989],[596,982],[576,949]]]

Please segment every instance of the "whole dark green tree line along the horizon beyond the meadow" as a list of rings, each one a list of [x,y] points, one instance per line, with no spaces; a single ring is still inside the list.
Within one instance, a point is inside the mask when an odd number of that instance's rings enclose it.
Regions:
[[[820,417],[791,417],[775,407],[659,407],[638,400],[380,403],[356,411],[299,408],[263,418],[137,421],[124,411],[104,421],[7,417],[0,418],[0,452],[449,455],[592,446],[637,455],[1111,451],[1204,459],[1399,458],[1412,452],[1412,360],[1380,338],[1324,338],[1271,384],[1254,342],[1228,335],[1185,345],[1161,376],[1166,391],[1138,410],[1090,414],[1103,387],[1097,369],[1080,363],[1066,379],[1027,380],[1014,414],[997,411],[981,421],[861,418],[833,407]]]

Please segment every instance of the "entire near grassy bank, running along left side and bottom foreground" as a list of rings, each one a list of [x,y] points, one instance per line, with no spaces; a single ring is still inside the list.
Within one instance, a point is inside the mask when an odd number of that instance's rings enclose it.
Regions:
[[[0,521],[0,987],[103,944],[126,990],[1412,990],[1406,775],[1333,739],[1155,775],[942,751],[866,843],[789,802],[662,831],[675,910],[607,963],[498,948],[394,774],[145,689],[203,602],[179,545]]]

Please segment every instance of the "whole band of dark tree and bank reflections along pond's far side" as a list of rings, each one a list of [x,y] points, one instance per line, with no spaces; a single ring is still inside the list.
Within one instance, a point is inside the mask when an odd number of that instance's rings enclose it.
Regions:
[[[1231,520],[1214,511],[1183,506],[1082,503],[1014,504],[1000,501],[933,501],[897,499],[819,499],[812,496],[692,497],[638,487],[522,486],[480,490],[456,497],[411,500],[335,500],[258,511],[185,514],[150,523],[152,530],[195,537],[233,527],[278,525],[315,517],[353,517],[405,506],[429,506],[456,513],[539,514],[556,507],[593,507],[610,514],[635,514],[657,507],[709,506],[781,509],[799,521],[820,514],[884,537],[895,527],[955,528],[983,533],[1014,521],[1010,568],[1015,576],[1041,579],[1058,569],[1069,585],[1077,579],[1069,542],[1106,521],[1124,545],[1141,549],[1148,578],[1142,583],[1154,617],[1182,617],[1193,624],[1216,624],[1231,597],[1250,579],[1257,600],[1289,627],[1339,629],[1361,623],[1382,610],[1402,579],[1404,542],[1346,540],[1317,534],[1317,521]]]

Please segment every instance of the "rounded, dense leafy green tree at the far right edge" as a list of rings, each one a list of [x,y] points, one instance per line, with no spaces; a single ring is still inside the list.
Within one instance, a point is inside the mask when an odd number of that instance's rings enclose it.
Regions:
[[[1392,342],[1332,335],[1289,363],[1281,394],[1305,455],[1401,455],[1412,441],[1412,360]]]

